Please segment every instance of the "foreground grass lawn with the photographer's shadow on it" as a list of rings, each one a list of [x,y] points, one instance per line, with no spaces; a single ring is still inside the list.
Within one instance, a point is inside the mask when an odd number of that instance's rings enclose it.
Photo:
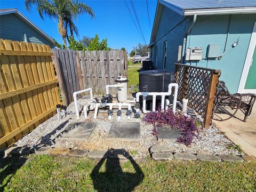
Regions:
[[[256,162],[156,162],[147,158],[142,163],[119,163],[30,155],[19,167],[17,158],[0,170],[1,191],[256,190]]]

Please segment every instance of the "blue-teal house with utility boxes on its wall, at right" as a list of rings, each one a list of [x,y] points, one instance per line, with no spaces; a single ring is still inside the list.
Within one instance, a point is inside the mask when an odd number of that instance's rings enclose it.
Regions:
[[[156,69],[220,69],[230,92],[256,93],[255,44],[255,0],[158,1],[149,44]]]

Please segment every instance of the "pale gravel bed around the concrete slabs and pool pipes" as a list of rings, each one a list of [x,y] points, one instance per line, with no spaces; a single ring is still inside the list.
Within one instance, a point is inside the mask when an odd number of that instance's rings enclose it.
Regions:
[[[86,103],[86,99],[79,99],[78,106],[82,109]],[[67,111],[75,111],[74,102],[70,103]],[[84,122],[84,116],[81,115],[79,122]],[[183,145],[178,142],[157,141],[156,137],[151,134],[153,126],[145,124],[141,119],[131,118],[127,119],[122,115],[120,120],[117,120],[116,114],[111,120],[108,120],[107,115],[99,113],[97,119],[93,119],[93,111],[89,113],[89,119],[86,121],[95,121],[97,125],[90,135],[88,141],[65,141],[55,140],[70,123],[77,122],[76,115],[70,114],[65,118],[58,120],[58,116],[54,115],[47,119],[44,123],[38,125],[35,130],[31,131],[25,137],[15,142],[14,145],[22,147],[69,147],[72,149],[81,148],[88,150],[107,150],[109,148],[122,149],[129,151],[131,155],[138,158],[144,158],[148,154],[148,150],[153,145],[167,145],[172,148],[172,152],[189,152],[189,153],[202,153],[202,154],[234,154],[238,155],[236,149],[227,149],[227,146],[233,143],[228,140],[214,125],[209,129],[200,130],[198,137],[194,139],[190,146]],[[110,126],[115,121],[122,122],[141,122],[141,139],[140,141],[109,141],[107,134]]]

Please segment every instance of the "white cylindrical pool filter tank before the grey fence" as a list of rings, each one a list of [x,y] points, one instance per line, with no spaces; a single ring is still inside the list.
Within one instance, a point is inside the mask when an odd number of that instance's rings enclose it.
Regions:
[[[122,85],[122,87],[117,88],[117,100],[118,102],[125,102],[127,101],[127,83],[128,79],[124,75],[117,76],[116,79],[117,85]]]

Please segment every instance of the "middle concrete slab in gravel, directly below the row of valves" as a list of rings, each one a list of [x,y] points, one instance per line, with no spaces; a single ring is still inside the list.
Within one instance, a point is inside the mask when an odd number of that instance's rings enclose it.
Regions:
[[[116,141],[139,141],[140,123],[114,122],[110,127],[107,139]]]

